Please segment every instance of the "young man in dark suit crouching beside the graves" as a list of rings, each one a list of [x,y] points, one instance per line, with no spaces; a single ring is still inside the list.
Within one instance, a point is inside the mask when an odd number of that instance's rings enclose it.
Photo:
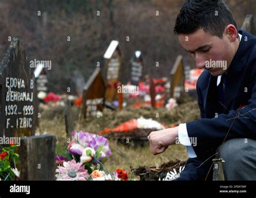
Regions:
[[[256,180],[256,37],[238,31],[218,0],[187,0],[174,33],[204,69],[197,81],[201,119],[151,132],[151,152],[177,140],[187,146],[190,158],[177,180],[212,180],[214,158],[225,160],[226,180]]]

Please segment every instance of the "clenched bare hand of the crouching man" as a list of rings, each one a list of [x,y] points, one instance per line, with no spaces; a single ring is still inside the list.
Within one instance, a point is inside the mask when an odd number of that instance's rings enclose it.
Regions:
[[[178,127],[153,131],[147,136],[150,141],[151,153],[157,155],[163,153],[169,145],[174,145],[178,138]]]

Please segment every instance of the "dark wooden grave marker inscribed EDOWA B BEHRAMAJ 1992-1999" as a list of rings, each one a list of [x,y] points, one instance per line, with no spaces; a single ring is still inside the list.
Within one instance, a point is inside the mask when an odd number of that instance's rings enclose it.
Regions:
[[[36,84],[21,40],[14,38],[0,65],[0,136],[35,133]]]

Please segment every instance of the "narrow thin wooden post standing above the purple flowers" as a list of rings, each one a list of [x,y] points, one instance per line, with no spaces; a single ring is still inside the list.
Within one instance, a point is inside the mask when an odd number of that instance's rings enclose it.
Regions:
[[[66,134],[69,138],[71,136],[71,133],[75,129],[75,124],[74,124],[74,118],[73,118],[71,103],[70,103],[70,100],[68,98],[66,99],[64,117],[65,117]]]

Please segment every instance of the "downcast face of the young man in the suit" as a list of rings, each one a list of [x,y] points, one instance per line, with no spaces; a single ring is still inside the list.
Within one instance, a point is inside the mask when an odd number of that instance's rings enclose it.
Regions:
[[[225,34],[221,39],[199,29],[190,35],[179,35],[179,41],[196,60],[197,68],[206,69],[213,76],[223,74],[234,57],[232,43]]]

